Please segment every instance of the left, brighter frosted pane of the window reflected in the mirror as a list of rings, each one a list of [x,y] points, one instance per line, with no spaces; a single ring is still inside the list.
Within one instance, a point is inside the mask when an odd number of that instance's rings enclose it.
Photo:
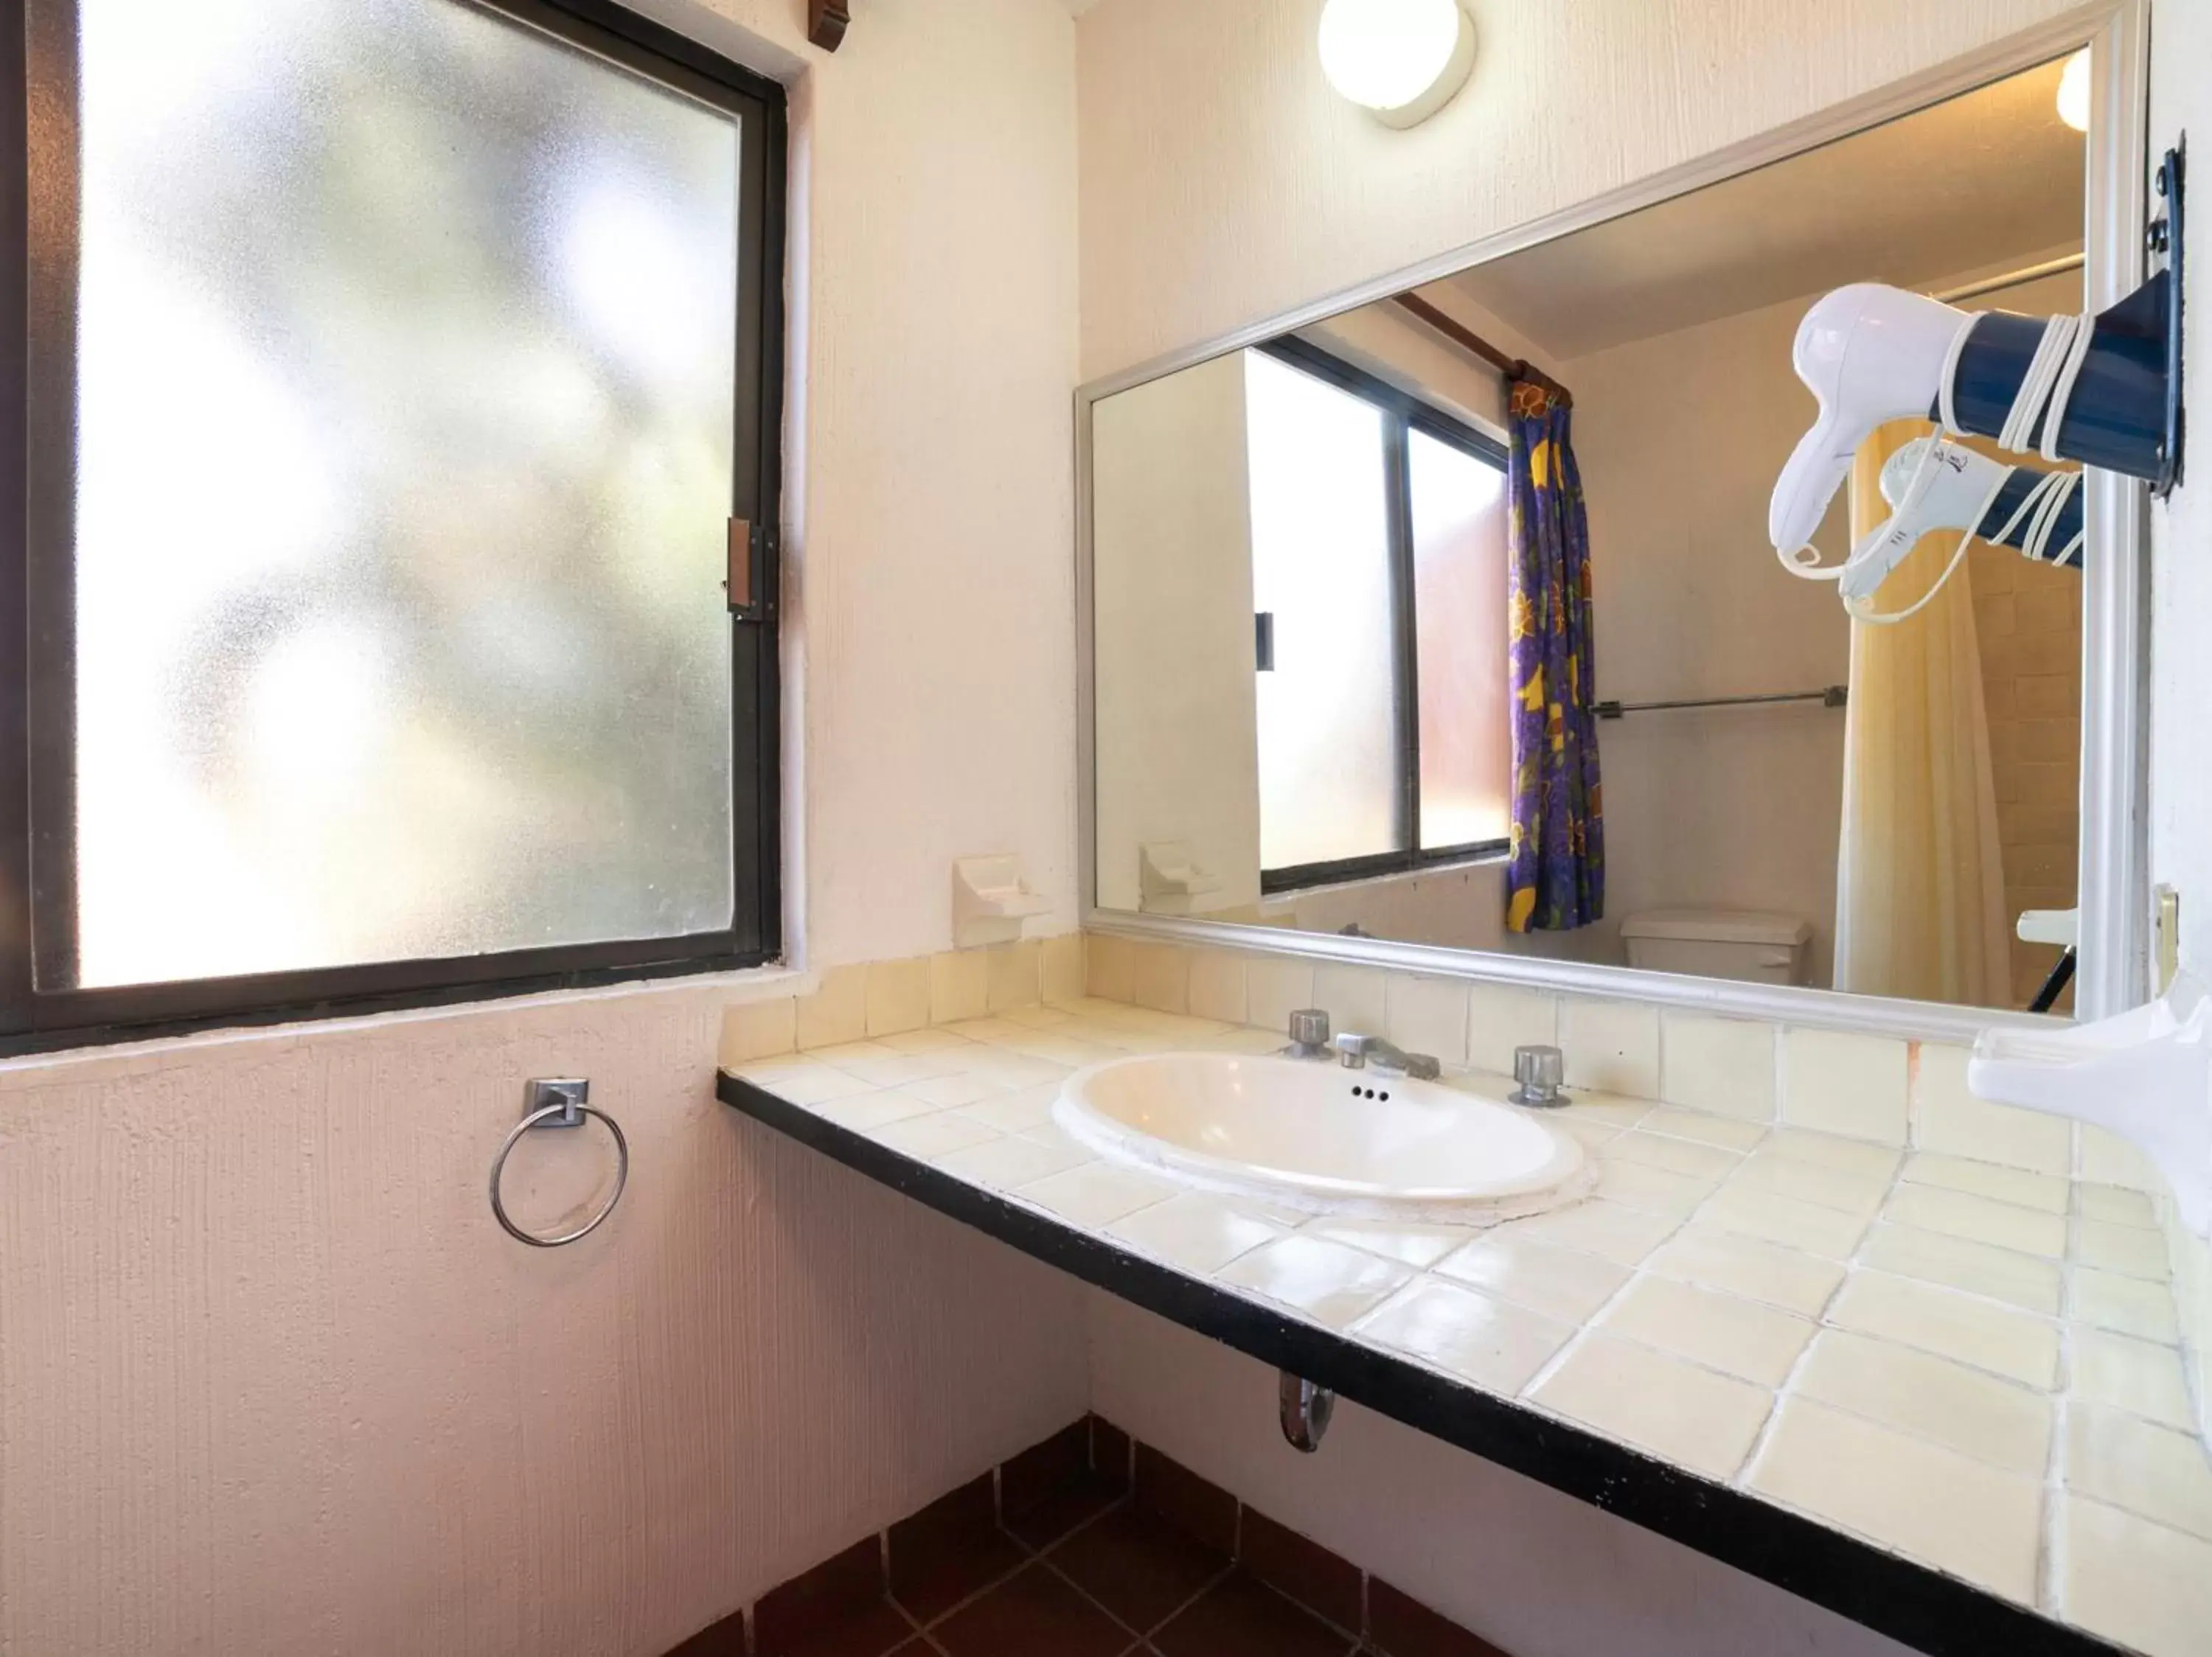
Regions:
[[[1383,411],[1245,352],[1263,869],[1396,843],[1396,646]]]

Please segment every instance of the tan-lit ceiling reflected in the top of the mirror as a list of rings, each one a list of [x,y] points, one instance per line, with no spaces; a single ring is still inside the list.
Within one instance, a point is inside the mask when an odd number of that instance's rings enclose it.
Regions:
[[[1847,281],[1924,288],[2079,246],[2059,64],[1478,265],[1455,288],[1553,361]]]

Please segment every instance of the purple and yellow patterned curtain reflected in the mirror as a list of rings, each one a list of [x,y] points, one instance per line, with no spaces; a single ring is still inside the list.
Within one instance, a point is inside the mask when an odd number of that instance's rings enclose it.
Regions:
[[[1513,381],[1513,850],[1506,929],[1568,931],[1606,914],[1597,790],[1590,520],[1573,409]]]

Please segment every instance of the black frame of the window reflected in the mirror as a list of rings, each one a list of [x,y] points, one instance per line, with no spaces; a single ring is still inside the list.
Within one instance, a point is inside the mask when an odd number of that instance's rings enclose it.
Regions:
[[[1338,885],[1343,880],[1367,880],[1380,874],[1413,874],[1420,869],[1473,863],[1502,854],[1511,841],[1467,841],[1462,845],[1420,845],[1420,624],[1413,593],[1413,476],[1409,462],[1411,434],[1436,438],[1462,454],[1498,467],[1511,487],[1511,451],[1486,431],[1478,431],[1464,420],[1455,420],[1431,403],[1420,400],[1389,381],[1347,363],[1334,352],[1325,352],[1312,341],[1287,334],[1254,347],[1301,374],[1349,392],[1383,414],[1383,489],[1389,522],[1389,582],[1391,582],[1391,723],[1394,754],[1398,765],[1398,788],[1391,812],[1389,852],[1334,858],[1327,863],[1296,863],[1281,869],[1261,867],[1259,889],[1263,896],[1281,892],[1303,892],[1310,887]]]

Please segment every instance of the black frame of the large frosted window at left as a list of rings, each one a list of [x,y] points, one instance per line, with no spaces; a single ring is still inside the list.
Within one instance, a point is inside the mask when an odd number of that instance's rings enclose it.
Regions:
[[[471,4],[739,122],[739,316],[732,513],[757,529],[752,597],[730,615],[734,903],[726,929],[681,938],[513,949],[442,960],[201,978],[117,989],[38,989],[33,880],[75,880],[73,524],[42,489],[33,522],[33,330],[62,327],[58,381],[75,398],[77,100],[75,4],[0,0],[0,1053],[44,1051],[210,1026],[436,1007],[679,973],[761,967],[783,953],[779,535],[783,491],[787,106],[774,80],[611,0],[425,0]],[[55,91],[66,95],[55,95]],[[33,115],[35,111],[35,115]],[[60,294],[66,303],[53,303]],[[55,445],[46,445],[49,449]],[[73,465],[73,447],[60,445]],[[38,465],[51,465],[40,460]],[[60,520],[58,524],[53,520]],[[58,588],[58,591],[55,591]],[[58,631],[60,628],[60,631]],[[33,661],[33,653],[38,659]],[[60,712],[55,712],[60,708]],[[55,768],[62,768],[60,772]],[[55,799],[60,794],[62,799]],[[62,838],[58,841],[55,834]],[[46,903],[71,896],[46,887]]]

